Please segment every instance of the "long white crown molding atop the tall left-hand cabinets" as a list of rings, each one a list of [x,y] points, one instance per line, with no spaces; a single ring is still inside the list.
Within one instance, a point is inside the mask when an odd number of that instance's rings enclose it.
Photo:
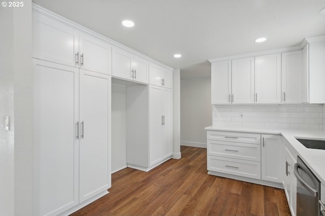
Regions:
[[[145,56],[142,53],[139,53],[136,50],[133,50],[133,49],[128,48],[128,47],[126,47],[126,46],[124,46],[124,45],[122,45],[122,44],[120,44],[120,43],[118,43],[116,41],[113,41],[113,40],[111,40],[109,38],[106,38],[104,35],[101,35],[101,34],[95,32],[95,31],[92,31],[92,30],[90,30],[90,29],[88,29],[88,28],[86,28],[86,27],[84,27],[84,26],[82,26],[82,25],[80,25],[78,23],[75,23],[75,22],[73,22],[73,21],[71,21],[71,20],[69,20],[67,18],[64,18],[64,17],[62,17],[62,16],[60,16],[58,14],[55,14],[52,11],[49,11],[49,10],[39,6],[39,5],[36,5],[35,3],[32,3],[32,12],[34,12],[34,13],[36,12],[36,13],[42,14],[44,16],[47,16],[47,17],[49,17],[49,18],[51,18],[51,19],[53,19],[53,20],[55,20],[57,22],[63,23],[64,25],[68,25],[68,26],[70,26],[72,28],[77,29],[78,31],[86,33],[86,34],[90,35],[91,37],[95,37],[95,38],[97,38],[99,40],[102,40],[102,41],[104,41],[106,43],[109,43],[112,46],[118,47],[120,49],[124,49],[124,50],[126,50],[128,52],[131,52],[131,53],[135,54],[135,55],[141,56],[141,57],[147,59],[148,61],[159,64],[159,65],[161,65],[163,67],[166,67],[166,68],[168,68],[170,70],[174,70],[174,68],[172,68],[172,67],[170,67],[170,66],[168,66],[166,64],[163,64],[163,63],[161,63],[159,61],[156,61],[156,60],[154,60],[154,59],[152,59],[152,58],[150,58],[148,56]]]

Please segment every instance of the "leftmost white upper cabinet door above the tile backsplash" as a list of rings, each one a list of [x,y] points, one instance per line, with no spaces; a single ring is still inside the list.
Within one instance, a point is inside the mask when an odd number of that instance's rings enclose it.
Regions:
[[[211,64],[211,103],[231,103],[232,91],[231,61],[214,62]]]

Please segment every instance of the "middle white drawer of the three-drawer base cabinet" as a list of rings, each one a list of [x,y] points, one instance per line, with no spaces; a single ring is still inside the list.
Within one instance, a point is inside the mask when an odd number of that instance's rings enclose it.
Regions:
[[[261,145],[208,140],[208,155],[261,162]]]

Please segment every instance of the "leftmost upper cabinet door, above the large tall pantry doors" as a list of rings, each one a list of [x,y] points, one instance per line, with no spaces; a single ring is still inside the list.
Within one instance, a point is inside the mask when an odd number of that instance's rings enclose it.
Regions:
[[[38,13],[32,13],[32,20],[32,57],[78,66],[79,32]]]

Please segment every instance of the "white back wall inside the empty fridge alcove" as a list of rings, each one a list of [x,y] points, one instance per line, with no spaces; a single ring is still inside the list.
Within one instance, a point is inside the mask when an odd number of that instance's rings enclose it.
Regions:
[[[126,167],[126,87],[112,85],[112,172]]]

